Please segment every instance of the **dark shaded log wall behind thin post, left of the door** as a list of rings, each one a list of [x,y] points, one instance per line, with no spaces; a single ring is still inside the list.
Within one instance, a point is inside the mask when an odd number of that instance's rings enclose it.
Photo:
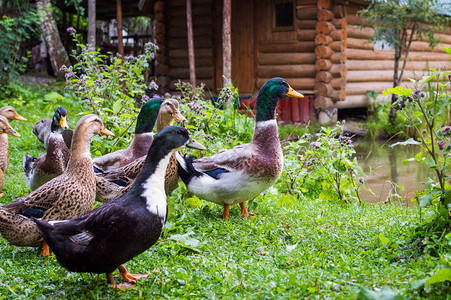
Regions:
[[[166,47],[168,87],[175,90],[179,80],[189,82],[186,0],[166,1]],[[212,90],[214,78],[214,20],[211,0],[192,0],[196,80]],[[160,45],[159,45],[160,46]],[[160,74],[157,71],[157,75]]]

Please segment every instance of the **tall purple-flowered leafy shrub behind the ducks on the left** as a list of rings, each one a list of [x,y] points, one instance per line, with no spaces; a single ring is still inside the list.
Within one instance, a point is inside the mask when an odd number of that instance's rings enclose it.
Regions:
[[[73,28],[68,31],[77,43],[77,49],[72,53],[75,65],[62,67],[66,73],[66,87],[81,99],[83,114],[99,115],[116,135],[110,140],[94,137],[97,154],[127,147],[133,137],[138,104],[149,99],[146,90],[158,89],[154,81],[146,84],[143,76],[158,47],[147,43],[144,54],[122,59],[119,54],[101,54],[89,44],[82,44]]]

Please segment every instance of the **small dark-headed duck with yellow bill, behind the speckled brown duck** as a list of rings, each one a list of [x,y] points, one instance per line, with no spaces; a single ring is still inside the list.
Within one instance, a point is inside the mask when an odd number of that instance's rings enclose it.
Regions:
[[[31,190],[61,175],[69,160],[69,148],[62,136],[63,130],[69,128],[67,110],[64,107],[56,109],[50,127],[50,135],[46,140],[47,152],[41,153],[37,158],[28,154],[23,157],[26,183]]]

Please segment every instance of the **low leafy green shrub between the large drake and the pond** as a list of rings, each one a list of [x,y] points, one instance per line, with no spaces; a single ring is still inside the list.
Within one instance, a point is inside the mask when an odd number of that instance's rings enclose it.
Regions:
[[[304,134],[284,148],[284,170],[278,185],[285,192],[309,199],[360,202],[362,169],[351,138],[341,135],[343,125]]]

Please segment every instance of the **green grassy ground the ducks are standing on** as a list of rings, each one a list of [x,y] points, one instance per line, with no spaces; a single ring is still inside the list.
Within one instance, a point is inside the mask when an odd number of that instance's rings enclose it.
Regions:
[[[22,156],[44,151],[31,126],[53,114],[41,115],[33,107],[18,111],[30,122],[12,123],[22,138],[9,139],[11,163],[0,203],[29,192]],[[14,247],[0,238],[0,299],[349,299],[361,287],[384,286],[407,298],[440,298],[443,293],[412,288],[439,263],[409,246],[419,218],[415,208],[280,203],[280,195],[271,190],[249,204],[254,217],[239,218],[239,208],[232,207],[230,221],[224,221],[219,206],[178,197],[183,188],[170,199],[172,212],[159,243],[126,264],[131,272],[150,272],[134,289],[112,290],[105,275],[68,272],[53,255],[41,258],[38,249]]]

